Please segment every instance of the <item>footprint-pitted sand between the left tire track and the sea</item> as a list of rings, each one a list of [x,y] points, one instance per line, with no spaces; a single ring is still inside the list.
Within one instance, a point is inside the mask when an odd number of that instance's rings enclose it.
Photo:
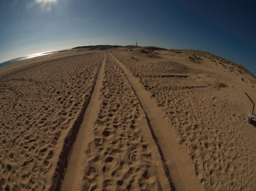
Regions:
[[[51,187],[64,139],[103,58],[73,53],[71,58],[56,54],[51,61],[33,59],[1,70],[0,190]]]

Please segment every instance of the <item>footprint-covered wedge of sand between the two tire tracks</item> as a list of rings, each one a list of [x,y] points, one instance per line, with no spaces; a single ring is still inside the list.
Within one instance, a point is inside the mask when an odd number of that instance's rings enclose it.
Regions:
[[[71,169],[72,164],[68,165],[61,189],[170,190],[144,110],[123,70],[109,55],[98,102],[99,108],[88,106],[92,113],[98,111],[94,123],[82,124],[81,130],[89,130],[77,135],[84,137],[83,145],[75,143],[71,152],[71,157],[81,158],[81,164]],[[86,115],[87,111],[84,120]],[[74,175],[76,179],[71,181]]]

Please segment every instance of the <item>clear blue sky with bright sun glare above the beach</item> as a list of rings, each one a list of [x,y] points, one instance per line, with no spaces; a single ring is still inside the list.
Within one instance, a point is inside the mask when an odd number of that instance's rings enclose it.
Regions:
[[[255,0],[0,0],[0,63],[111,44],[198,49],[256,75]]]

